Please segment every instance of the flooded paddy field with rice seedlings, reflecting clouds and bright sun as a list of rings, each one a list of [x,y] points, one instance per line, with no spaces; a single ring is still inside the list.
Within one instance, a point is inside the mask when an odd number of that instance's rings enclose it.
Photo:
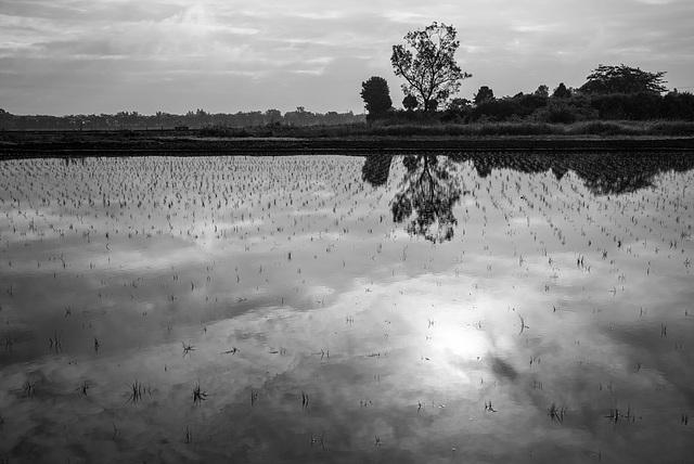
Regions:
[[[3,463],[693,459],[691,153],[0,166]]]

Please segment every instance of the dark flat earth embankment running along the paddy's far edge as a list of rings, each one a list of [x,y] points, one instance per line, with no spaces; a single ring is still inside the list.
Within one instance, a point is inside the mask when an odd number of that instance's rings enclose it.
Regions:
[[[21,134],[20,134],[21,136]],[[694,138],[682,137],[355,137],[355,138],[205,138],[33,134],[5,138],[0,157],[295,155],[335,153],[465,151],[694,151]]]

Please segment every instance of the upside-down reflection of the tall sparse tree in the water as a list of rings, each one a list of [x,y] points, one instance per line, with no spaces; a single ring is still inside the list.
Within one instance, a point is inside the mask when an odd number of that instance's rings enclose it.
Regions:
[[[402,164],[406,175],[390,203],[393,220],[409,220],[406,230],[411,235],[433,243],[450,241],[458,225],[453,207],[463,193],[455,166],[435,155],[406,155]]]

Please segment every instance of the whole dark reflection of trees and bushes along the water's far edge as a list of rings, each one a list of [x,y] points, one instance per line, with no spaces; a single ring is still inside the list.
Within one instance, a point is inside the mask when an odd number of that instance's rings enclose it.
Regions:
[[[386,184],[393,155],[367,157],[362,179],[374,186]],[[621,195],[654,185],[667,171],[694,169],[687,152],[461,152],[451,156],[406,155],[406,175],[390,203],[393,220],[407,224],[408,233],[433,243],[450,241],[458,220],[453,207],[465,194],[458,167],[475,169],[481,179],[494,169],[525,173],[551,171],[558,181],[573,171],[593,195]]]

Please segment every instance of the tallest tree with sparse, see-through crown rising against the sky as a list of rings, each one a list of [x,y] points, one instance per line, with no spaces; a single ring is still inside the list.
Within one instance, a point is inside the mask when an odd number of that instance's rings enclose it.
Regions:
[[[460,81],[472,77],[455,63],[455,28],[432,23],[424,30],[404,36],[407,44],[393,46],[390,63],[395,75],[404,78],[402,91],[416,96],[425,112],[436,111],[439,104],[458,92]]]

